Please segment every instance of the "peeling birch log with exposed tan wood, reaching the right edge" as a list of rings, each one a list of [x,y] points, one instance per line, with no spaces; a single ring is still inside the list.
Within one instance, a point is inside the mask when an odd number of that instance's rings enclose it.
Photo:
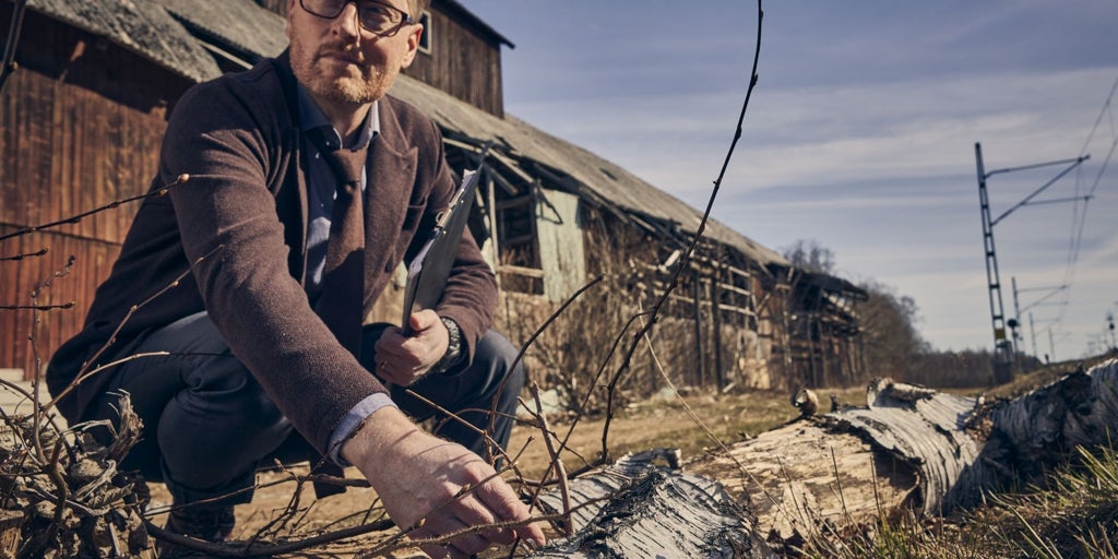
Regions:
[[[1116,426],[1118,360],[993,404],[881,380],[866,407],[802,418],[686,468],[748,499],[769,541],[795,542],[882,513],[945,514],[1041,482]]]

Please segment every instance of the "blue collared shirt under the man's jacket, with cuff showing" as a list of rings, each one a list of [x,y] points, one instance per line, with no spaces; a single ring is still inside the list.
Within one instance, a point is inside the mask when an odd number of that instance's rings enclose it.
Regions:
[[[302,84],[299,91],[299,116],[302,123],[303,153],[306,153],[306,189],[307,189],[307,227],[306,227],[306,296],[314,305],[322,291],[322,273],[326,265],[326,241],[330,240],[330,216],[334,209],[338,179],[330,163],[322,157],[322,148],[335,150],[342,145],[342,136],[330,124],[326,115],[311,98],[311,94]],[[380,103],[373,102],[369,115],[361,126],[357,142],[347,148],[362,149],[380,135]],[[322,148],[320,148],[320,143]],[[361,190],[368,182],[368,177],[361,177]],[[330,434],[330,447],[326,456],[340,466],[349,466],[341,455],[341,444],[349,438],[367,417],[378,409],[396,404],[385,392],[370,395],[350,409]]]

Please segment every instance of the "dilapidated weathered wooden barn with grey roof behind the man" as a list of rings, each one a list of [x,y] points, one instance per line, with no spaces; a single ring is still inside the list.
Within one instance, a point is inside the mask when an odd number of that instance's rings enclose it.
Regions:
[[[12,18],[13,4],[0,3],[8,38],[18,31],[18,41],[7,41],[18,68],[0,94],[0,305],[75,303],[0,311],[0,368],[31,375],[79,328],[135,207],[13,234],[142,195],[174,101],[197,82],[278,54],[286,6],[29,0]],[[501,49],[512,44],[464,6],[434,0],[423,18],[423,54],[391,93],[439,124],[455,169],[484,160],[471,226],[498,271],[500,323],[514,341],[593,276],[604,275],[600,288],[623,296],[624,304],[601,310],[622,322],[678,277],[657,326],[672,329],[661,338],[672,342],[665,348],[676,382],[780,388],[858,377],[853,304],[864,293],[798,271],[717,221],[676,274],[701,214],[505,114]],[[76,258],[66,268],[68,255]],[[68,275],[55,277],[64,268]],[[395,316],[386,301],[382,313]],[[579,319],[603,323],[600,315]]]

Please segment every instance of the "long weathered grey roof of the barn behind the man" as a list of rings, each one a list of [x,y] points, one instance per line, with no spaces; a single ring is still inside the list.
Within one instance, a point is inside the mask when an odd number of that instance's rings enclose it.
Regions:
[[[231,50],[246,61],[274,56],[286,46],[284,19],[253,0],[30,0],[29,7],[104,36],[196,82],[221,70],[210,49]],[[505,40],[508,42],[508,40]],[[547,168],[578,195],[619,208],[671,235],[692,236],[702,214],[622,167],[524,121],[499,119],[435,87],[400,76],[391,92],[432,116],[444,131]],[[705,236],[758,264],[788,265],[776,252],[711,219]]]

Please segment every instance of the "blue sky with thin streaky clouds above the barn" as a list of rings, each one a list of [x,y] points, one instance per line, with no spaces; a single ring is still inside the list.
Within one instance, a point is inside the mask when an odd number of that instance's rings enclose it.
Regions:
[[[514,45],[502,53],[508,113],[705,208],[748,86],[756,2],[459,1]],[[980,144],[987,172],[1013,169],[986,184],[992,218],[1008,211],[993,239],[1021,349],[1064,360],[1110,347],[1118,1],[764,10],[716,219],[778,252],[828,248],[836,275],[911,297],[938,350],[989,349]],[[1018,169],[1084,154],[1054,182],[1070,163]]]

